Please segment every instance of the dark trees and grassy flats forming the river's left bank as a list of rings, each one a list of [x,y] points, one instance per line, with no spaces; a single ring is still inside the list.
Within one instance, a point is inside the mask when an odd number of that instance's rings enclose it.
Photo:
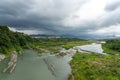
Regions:
[[[12,32],[7,26],[0,25],[0,54],[9,55],[12,51],[22,49],[37,49],[39,53],[55,52],[61,47],[66,49],[73,46],[88,44],[90,41],[82,39],[33,39],[28,35],[19,32]]]

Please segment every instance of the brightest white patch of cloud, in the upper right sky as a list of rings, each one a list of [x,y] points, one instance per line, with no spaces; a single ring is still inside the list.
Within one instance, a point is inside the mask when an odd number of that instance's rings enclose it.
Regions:
[[[113,0],[89,0],[84,3],[77,11],[70,14],[63,20],[65,26],[79,27],[88,22],[97,22],[109,13],[105,11],[105,7]]]

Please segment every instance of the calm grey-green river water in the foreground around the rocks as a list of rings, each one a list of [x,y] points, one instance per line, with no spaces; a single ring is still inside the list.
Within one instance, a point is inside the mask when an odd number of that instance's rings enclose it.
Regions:
[[[54,66],[56,76],[51,73],[43,59]],[[2,70],[7,67],[9,59],[0,62],[0,80],[67,80],[71,73],[68,64],[70,60],[71,56],[68,55],[60,57],[45,54],[39,57],[37,52],[25,50],[18,57],[17,66],[12,74],[9,71],[2,73]]]

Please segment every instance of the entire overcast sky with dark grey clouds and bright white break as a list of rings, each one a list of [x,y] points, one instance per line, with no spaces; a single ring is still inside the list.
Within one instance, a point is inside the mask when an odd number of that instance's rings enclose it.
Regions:
[[[1,0],[0,24],[26,34],[120,36],[120,0]]]

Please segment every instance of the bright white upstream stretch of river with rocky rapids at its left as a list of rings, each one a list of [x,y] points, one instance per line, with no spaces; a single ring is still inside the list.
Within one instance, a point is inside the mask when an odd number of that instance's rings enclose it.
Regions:
[[[98,43],[74,46],[73,48],[70,48],[70,49],[62,48],[59,53],[74,55],[78,52],[79,53],[95,53],[95,54],[107,55],[106,53],[104,53],[104,50],[102,49],[102,44],[98,44]]]

